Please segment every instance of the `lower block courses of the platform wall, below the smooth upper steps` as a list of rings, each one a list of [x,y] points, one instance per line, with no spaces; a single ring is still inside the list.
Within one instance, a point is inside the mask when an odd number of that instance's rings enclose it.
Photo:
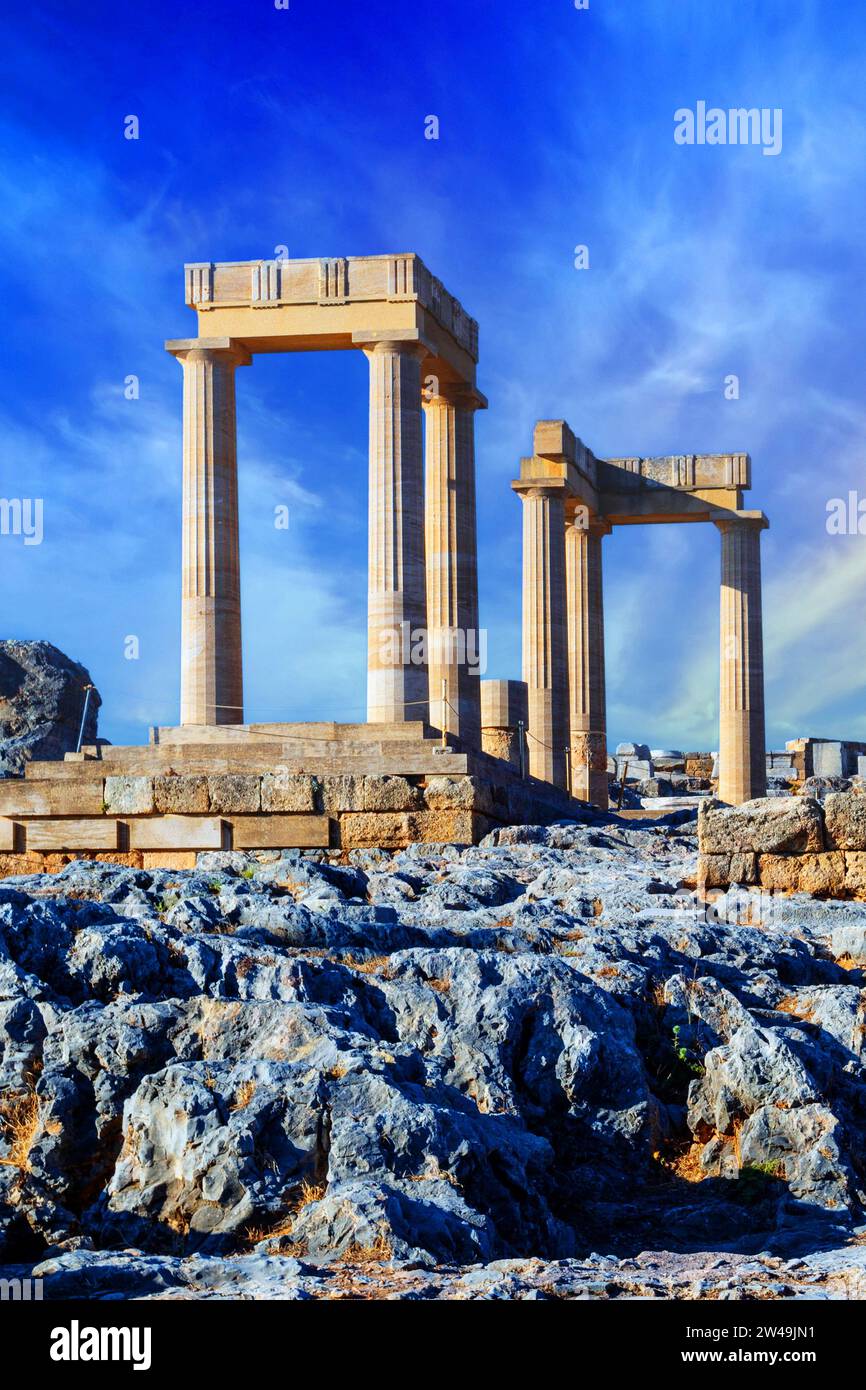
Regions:
[[[0,877],[53,872],[72,858],[183,869],[204,849],[470,845],[496,826],[578,809],[564,792],[507,771],[101,776],[93,763],[76,766],[86,781],[0,781]]]

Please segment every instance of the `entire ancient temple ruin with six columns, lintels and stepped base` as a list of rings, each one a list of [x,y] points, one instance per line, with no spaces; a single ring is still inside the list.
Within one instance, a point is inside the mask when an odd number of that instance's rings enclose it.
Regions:
[[[417,256],[186,265],[181,723],[0,784],[3,872],[74,853],[188,866],[206,849],[475,842],[607,808],[602,539],[721,534],[719,795],[766,787],[760,512],[748,455],[596,459],[539,421],[523,503],[523,680],[482,681],[478,325]],[[370,364],[367,721],[245,724],[235,375],[257,353]],[[418,655],[418,652],[421,655]],[[33,860],[36,855],[36,860]],[[54,856],[54,858],[51,858]],[[58,858],[57,858],[58,856]]]

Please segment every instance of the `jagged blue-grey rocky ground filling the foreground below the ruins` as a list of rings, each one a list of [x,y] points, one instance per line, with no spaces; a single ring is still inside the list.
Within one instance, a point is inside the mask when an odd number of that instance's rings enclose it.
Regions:
[[[0,884],[0,1275],[44,1297],[866,1295],[866,905],[694,820]]]

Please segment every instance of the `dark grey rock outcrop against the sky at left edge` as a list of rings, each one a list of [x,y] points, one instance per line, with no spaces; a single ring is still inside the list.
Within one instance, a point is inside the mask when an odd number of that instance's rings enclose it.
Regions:
[[[90,676],[50,642],[0,641],[0,777],[19,776],[31,758],[75,748]],[[83,742],[96,742],[99,691],[90,691]]]

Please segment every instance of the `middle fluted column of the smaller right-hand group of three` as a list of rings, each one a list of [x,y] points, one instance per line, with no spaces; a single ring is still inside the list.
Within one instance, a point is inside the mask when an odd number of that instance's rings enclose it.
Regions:
[[[566,525],[571,794],[607,809],[602,538],[610,525],[584,509]]]

